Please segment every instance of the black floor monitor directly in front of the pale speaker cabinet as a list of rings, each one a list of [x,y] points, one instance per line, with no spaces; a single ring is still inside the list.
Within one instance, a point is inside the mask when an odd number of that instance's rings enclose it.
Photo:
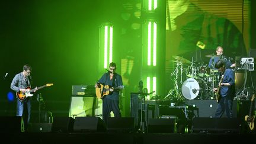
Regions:
[[[76,117],[73,130],[74,132],[104,132],[106,127],[100,117]]]

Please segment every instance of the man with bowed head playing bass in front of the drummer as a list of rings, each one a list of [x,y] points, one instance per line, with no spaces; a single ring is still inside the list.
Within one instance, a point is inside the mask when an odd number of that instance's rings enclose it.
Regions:
[[[217,110],[215,117],[222,117],[224,111],[226,111],[227,117],[233,117],[232,113],[232,103],[233,97],[235,96],[235,75],[232,69],[225,68],[225,62],[219,60],[215,64],[215,68],[221,73],[220,78],[223,75],[222,82],[219,84],[219,100],[217,100]],[[213,91],[217,91],[214,88]]]

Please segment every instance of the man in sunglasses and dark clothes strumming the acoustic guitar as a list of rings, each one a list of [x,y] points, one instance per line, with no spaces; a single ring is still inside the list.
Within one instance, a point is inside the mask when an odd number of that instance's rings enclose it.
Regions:
[[[106,123],[107,118],[110,117],[111,111],[114,113],[114,117],[121,117],[119,108],[119,91],[115,89],[123,85],[121,75],[116,73],[116,63],[111,62],[109,65],[109,71],[101,76],[100,80],[95,84],[95,88],[108,85],[110,92],[108,95],[104,95],[103,99],[103,120]],[[104,88],[103,88],[104,91]]]

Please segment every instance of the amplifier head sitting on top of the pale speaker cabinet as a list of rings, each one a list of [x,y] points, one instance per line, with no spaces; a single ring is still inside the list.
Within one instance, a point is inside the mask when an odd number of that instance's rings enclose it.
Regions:
[[[95,95],[94,85],[72,85],[72,95]]]

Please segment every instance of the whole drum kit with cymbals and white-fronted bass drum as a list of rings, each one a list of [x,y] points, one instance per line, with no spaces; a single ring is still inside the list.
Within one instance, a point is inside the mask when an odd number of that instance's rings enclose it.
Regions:
[[[180,56],[172,56],[175,60],[175,69],[171,73],[174,80],[174,89],[169,91],[168,96],[181,99],[183,95],[187,100],[212,100],[214,98],[213,88],[217,85],[218,72],[209,68],[208,65],[192,62]],[[217,57],[206,55],[206,57]]]

